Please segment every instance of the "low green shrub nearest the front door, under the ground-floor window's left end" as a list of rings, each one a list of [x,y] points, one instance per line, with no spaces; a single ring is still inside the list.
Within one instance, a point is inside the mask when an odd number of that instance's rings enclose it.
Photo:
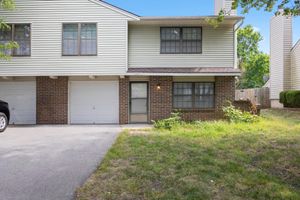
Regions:
[[[171,113],[171,117],[167,119],[152,121],[155,128],[158,129],[172,129],[180,124],[182,124],[181,113],[173,112]]]

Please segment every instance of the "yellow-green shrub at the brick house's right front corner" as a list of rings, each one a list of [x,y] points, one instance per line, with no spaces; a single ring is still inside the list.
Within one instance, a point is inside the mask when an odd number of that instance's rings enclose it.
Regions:
[[[243,112],[237,108],[235,108],[231,103],[229,106],[223,107],[223,112],[226,118],[230,122],[239,123],[239,122],[246,122],[246,123],[253,123],[258,121],[258,116],[251,114],[250,112]]]

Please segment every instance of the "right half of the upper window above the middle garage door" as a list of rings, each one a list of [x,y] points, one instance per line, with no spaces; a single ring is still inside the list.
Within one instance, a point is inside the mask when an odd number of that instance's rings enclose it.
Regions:
[[[95,55],[97,53],[96,24],[81,24],[80,54]]]

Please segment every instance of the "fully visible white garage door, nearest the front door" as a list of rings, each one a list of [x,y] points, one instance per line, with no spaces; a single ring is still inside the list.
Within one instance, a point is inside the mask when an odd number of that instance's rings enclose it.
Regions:
[[[70,81],[70,123],[119,123],[118,81]]]

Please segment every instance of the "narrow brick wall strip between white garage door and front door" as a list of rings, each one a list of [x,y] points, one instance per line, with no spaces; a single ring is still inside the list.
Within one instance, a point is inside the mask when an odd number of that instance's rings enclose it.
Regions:
[[[119,121],[120,124],[128,124],[129,119],[129,78],[119,80]]]

